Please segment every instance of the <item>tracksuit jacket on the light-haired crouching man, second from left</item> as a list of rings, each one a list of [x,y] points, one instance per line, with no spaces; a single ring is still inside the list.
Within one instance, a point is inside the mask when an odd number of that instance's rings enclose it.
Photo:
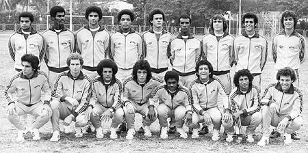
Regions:
[[[70,71],[62,72],[55,79],[55,85],[51,96],[60,102],[64,102],[66,96],[76,99],[79,106],[72,112],[76,117],[88,108],[93,89],[92,79],[80,72],[77,79],[74,79]]]

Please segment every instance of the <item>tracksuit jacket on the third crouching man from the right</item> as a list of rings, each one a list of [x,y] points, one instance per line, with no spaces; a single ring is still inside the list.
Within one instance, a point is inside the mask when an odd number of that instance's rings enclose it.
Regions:
[[[209,78],[207,84],[203,84],[200,79],[196,78],[190,84],[189,89],[192,92],[192,108],[199,115],[202,115],[203,111],[218,107],[218,94],[221,96],[224,109],[230,108],[227,87],[216,76]]]

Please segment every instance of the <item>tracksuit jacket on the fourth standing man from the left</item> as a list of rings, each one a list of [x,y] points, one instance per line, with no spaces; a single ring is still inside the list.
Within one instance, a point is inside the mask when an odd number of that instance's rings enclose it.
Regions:
[[[131,69],[133,64],[140,59],[144,59],[144,42],[142,36],[131,29],[125,36],[120,29],[111,36],[112,58],[118,68]]]

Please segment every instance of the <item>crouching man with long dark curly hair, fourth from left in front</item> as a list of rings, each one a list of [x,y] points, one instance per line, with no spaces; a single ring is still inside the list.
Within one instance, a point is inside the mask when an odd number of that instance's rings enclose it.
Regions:
[[[125,111],[125,120],[127,121],[126,139],[133,139],[135,135],[135,113],[142,115],[142,126],[144,136],[151,137],[150,125],[155,122],[156,117],[147,117],[149,112],[149,97],[151,92],[163,81],[158,77],[152,76],[151,66],[148,61],[140,60],[133,65],[133,76],[127,77],[123,83],[123,102]]]

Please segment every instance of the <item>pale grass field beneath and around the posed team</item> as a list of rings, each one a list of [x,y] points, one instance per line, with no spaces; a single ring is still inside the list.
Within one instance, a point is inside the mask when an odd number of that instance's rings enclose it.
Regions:
[[[202,37],[202,36],[198,36]],[[59,142],[51,142],[51,122],[40,129],[41,141],[26,139],[24,142],[16,142],[17,130],[5,117],[7,102],[3,97],[5,85],[14,74],[14,64],[8,53],[8,36],[0,36],[0,152],[308,152],[308,61],[300,68],[300,88],[303,90],[304,102],[302,117],[303,127],[297,132],[301,139],[293,141],[292,145],[283,145],[283,137],[270,139],[270,145],[259,147],[257,141],[261,139],[261,125],[256,130],[254,143],[227,143],[221,134],[220,141],[211,141],[211,131],[198,139],[179,139],[178,134],[169,135],[166,140],[159,138],[159,123],[155,121],[151,125],[153,136],[144,137],[136,133],[132,141],[125,139],[126,133],[119,135],[118,139],[109,138],[109,133],[103,139],[97,139],[94,133],[84,135],[76,139],[73,133],[61,133]],[[269,39],[270,40],[270,39]],[[269,43],[269,48],[271,48]],[[42,63],[42,70],[47,70]],[[272,81],[274,62],[269,50],[268,61],[262,74],[261,91]],[[233,75],[234,68],[231,70]],[[136,130],[141,126],[141,116],[136,117]],[[210,128],[211,130],[211,128]],[[221,130],[222,133],[222,130]]]

